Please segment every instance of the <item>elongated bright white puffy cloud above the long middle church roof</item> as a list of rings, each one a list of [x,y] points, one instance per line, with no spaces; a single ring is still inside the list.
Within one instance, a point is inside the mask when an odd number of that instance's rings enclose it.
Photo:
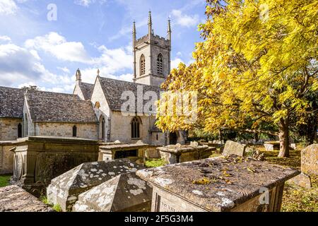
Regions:
[[[88,64],[90,59],[81,42],[67,42],[65,37],[57,32],[49,32],[44,36],[25,41],[28,49],[37,49],[52,54],[62,61],[72,61]]]

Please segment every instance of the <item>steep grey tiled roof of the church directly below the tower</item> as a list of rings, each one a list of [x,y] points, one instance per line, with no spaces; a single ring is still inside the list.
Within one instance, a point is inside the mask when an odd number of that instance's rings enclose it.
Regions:
[[[158,86],[131,83],[112,78],[98,77],[98,79],[100,81],[100,85],[102,86],[102,90],[105,94],[108,105],[110,105],[110,109],[112,111],[121,111],[122,105],[124,104],[124,102],[126,102],[126,100],[121,100],[122,93],[124,93],[125,91],[131,91],[132,93],[134,93],[137,103],[137,88],[139,86],[143,88],[143,95],[147,91],[153,91],[157,94],[157,98],[160,98],[160,88]],[[143,100],[143,105],[145,105],[148,101],[149,100]]]

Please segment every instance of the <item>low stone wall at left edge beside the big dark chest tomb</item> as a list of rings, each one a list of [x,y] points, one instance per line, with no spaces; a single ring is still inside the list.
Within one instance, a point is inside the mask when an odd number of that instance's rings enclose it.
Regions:
[[[14,147],[10,141],[0,141],[0,174],[13,173],[13,152],[9,150]]]

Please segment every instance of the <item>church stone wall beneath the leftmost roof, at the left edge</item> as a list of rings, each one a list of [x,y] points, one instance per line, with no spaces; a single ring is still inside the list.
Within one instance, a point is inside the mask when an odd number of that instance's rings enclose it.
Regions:
[[[18,124],[22,119],[0,119],[0,141],[14,141],[18,138]]]

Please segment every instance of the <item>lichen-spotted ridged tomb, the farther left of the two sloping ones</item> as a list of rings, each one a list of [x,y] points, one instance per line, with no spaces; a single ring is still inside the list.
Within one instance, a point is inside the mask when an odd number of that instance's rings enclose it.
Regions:
[[[49,203],[59,204],[62,210],[71,210],[79,194],[119,174],[142,168],[127,159],[83,163],[52,179],[47,187],[47,198]]]

